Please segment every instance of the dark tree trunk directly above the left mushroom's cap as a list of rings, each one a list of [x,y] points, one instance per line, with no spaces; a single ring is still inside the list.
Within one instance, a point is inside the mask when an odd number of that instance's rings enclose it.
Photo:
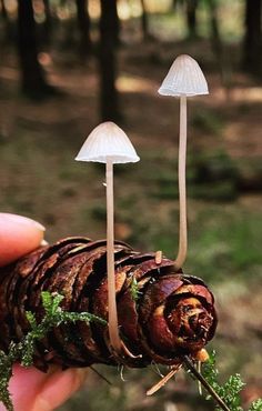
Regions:
[[[117,79],[117,51],[115,51],[115,10],[117,0],[100,0],[100,108],[103,121],[119,120]]]

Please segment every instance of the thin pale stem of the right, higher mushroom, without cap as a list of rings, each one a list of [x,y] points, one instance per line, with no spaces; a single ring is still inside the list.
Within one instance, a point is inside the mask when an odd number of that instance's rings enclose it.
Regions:
[[[187,96],[180,98],[180,132],[179,132],[179,252],[175,258],[175,267],[180,269],[188,252],[188,227],[187,227]]]

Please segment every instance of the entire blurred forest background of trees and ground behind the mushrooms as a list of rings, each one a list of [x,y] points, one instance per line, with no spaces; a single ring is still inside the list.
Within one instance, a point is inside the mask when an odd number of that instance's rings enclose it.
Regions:
[[[243,405],[262,397],[262,1],[1,0],[0,209],[34,218],[47,240],[105,231],[103,167],[73,161],[113,120],[141,161],[115,167],[117,237],[178,247],[179,102],[157,90],[174,58],[203,69],[189,100],[189,257],[216,295],[212,342],[222,379],[240,372]],[[152,398],[153,369],[98,367],[61,411],[213,410],[183,373]]]

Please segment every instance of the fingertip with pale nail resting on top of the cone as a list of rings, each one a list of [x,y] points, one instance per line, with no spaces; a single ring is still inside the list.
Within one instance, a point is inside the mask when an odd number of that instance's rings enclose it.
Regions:
[[[0,213],[0,265],[6,265],[38,248],[44,227],[27,217]]]

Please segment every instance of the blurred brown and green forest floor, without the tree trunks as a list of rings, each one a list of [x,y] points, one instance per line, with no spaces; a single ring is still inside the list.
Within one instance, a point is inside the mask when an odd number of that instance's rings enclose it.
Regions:
[[[248,383],[246,404],[262,397],[262,87],[236,69],[234,53],[222,81],[205,41],[196,48],[192,42],[157,41],[120,48],[121,127],[141,161],[115,167],[115,231],[137,249],[175,253],[179,102],[157,91],[181,52],[200,62],[210,86],[210,96],[189,99],[190,231],[184,271],[212,285],[220,318],[212,347],[222,375],[241,372]],[[61,91],[43,101],[19,94],[12,51],[0,63],[1,211],[38,219],[50,242],[72,234],[103,237],[103,168],[73,161],[99,123],[95,61],[80,67],[71,53],[42,53],[41,62],[49,82]],[[127,371],[127,382],[113,377],[113,370],[102,372],[110,374],[113,385],[90,372],[87,388],[61,410],[212,409],[198,400],[183,373],[145,399],[145,388],[159,378],[153,371]]]

